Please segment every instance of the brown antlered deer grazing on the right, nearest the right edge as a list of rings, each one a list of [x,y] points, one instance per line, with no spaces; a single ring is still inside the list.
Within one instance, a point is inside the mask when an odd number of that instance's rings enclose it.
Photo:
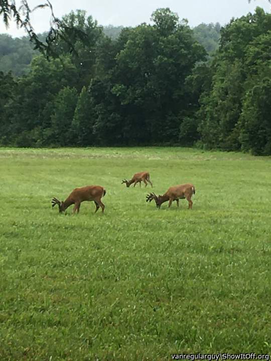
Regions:
[[[152,202],[155,200],[156,207],[160,208],[162,203],[169,201],[169,207],[171,206],[173,201],[177,202],[177,206],[179,207],[179,199],[187,199],[189,206],[188,209],[192,209],[193,202],[191,201],[191,197],[196,193],[195,187],[192,184],[185,184],[180,186],[170,187],[167,192],[163,196],[156,196],[154,193],[150,193],[146,197],[146,202]]]

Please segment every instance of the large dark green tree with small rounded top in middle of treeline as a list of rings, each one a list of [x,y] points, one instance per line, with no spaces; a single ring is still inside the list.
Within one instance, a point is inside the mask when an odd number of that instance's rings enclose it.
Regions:
[[[186,78],[206,54],[187,22],[179,22],[169,9],[159,9],[152,20],[153,26],[142,24],[120,34],[109,79],[97,83],[104,82],[100,89],[105,89],[111,110],[108,114],[106,104],[96,102],[99,115],[94,128],[104,131],[101,125],[108,125],[110,118],[108,132],[118,129],[114,139],[125,144],[179,141],[182,119],[193,111]]]

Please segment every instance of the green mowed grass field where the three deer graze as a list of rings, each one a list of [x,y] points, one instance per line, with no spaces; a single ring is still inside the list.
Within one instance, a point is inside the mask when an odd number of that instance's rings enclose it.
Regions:
[[[147,204],[121,180],[149,170]],[[188,148],[0,149],[0,360],[271,352],[271,158]],[[101,185],[79,215],[51,208]]]

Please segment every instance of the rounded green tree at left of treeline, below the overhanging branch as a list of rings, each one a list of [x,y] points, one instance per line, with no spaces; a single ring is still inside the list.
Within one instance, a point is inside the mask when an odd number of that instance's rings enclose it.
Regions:
[[[29,74],[18,79],[14,101],[7,108],[9,130],[6,136],[10,141],[21,146],[46,144],[46,129],[51,127],[55,97],[63,87],[76,84],[76,68],[70,57],[50,62],[43,56],[34,58]],[[29,134],[27,144],[24,143],[26,134]]]

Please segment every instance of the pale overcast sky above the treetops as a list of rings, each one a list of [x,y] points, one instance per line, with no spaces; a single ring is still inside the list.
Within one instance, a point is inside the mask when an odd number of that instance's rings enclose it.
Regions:
[[[16,2],[19,4],[19,0]],[[43,0],[29,0],[29,5],[34,8],[42,4]],[[170,8],[180,17],[186,18],[189,25],[194,27],[200,23],[216,23],[224,25],[231,18],[238,18],[253,12],[256,6],[270,11],[267,0],[51,0],[55,15],[61,18],[71,10],[86,10],[100,25],[135,26],[149,23],[153,11],[157,8]],[[37,10],[33,13],[35,31],[40,33],[49,28],[50,13],[48,10]],[[25,33],[17,30],[15,25],[6,29],[0,20],[0,33],[13,36],[22,36]]]

